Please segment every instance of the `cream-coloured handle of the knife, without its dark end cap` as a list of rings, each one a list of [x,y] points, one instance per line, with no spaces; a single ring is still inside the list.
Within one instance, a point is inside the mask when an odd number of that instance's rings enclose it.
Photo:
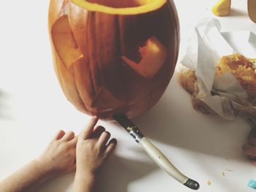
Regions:
[[[184,174],[178,171],[173,164],[170,163],[170,161],[165,157],[165,155],[146,137],[143,137],[140,139],[139,142],[140,146],[143,147],[143,149],[148,153],[148,155],[154,160],[154,162],[167,174],[170,174],[170,176],[174,177],[178,182],[180,183],[186,183],[186,181],[189,179]]]

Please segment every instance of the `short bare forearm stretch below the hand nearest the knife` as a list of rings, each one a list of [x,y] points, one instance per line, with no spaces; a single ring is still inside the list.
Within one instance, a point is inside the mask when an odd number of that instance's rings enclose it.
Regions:
[[[93,174],[76,172],[74,189],[75,192],[97,192],[97,182],[95,176]]]

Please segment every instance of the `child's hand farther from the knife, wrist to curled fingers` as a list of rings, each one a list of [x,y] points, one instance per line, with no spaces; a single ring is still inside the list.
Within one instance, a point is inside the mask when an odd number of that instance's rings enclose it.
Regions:
[[[75,169],[75,146],[78,137],[73,131],[60,130],[45,152],[37,159],[40,168],[50,174],[62,174]]]

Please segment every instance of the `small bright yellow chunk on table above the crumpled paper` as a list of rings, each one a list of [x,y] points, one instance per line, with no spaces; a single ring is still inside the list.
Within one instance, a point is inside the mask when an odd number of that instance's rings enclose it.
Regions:
[[[255,1],[255,0],[254,0]],[[226,16],[230,14],[231,0],[219,0],[211,11],[217,16]]]

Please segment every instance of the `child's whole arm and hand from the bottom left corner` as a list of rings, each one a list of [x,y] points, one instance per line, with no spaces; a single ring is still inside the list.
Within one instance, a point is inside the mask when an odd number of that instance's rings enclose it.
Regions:
[[[39,158],[0,182],[0,191],[35,191],[46,180],[74,170],[76,143],[77,137],[72,131],[67,134],[59,131]]]

